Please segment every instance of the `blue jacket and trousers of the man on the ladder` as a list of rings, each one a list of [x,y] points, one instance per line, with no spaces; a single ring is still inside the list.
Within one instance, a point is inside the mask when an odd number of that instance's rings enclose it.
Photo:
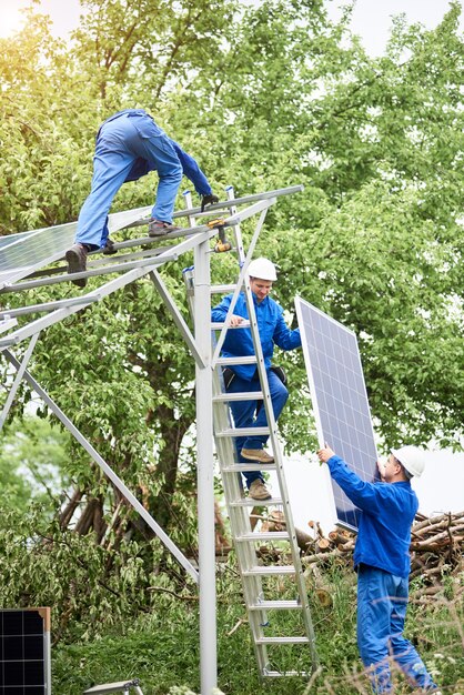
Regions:
[[[232,294],[228,294],[223,298],[218,306],[212,310],[212,321],[223,323],[231,305]],[[271,402],[274,412],[275,422],[283,410],[289,397],[289,391],[282,383],[279,376],[271,371],[271,360],[274,352],[274,345],[278,345],[282,350],[293,350],[301,346],[300,329],[291,331],[284,319],[283,309],[278,302],[270,296],[266,296],[261,302],[258,302],[253,294],[254,311],[256,314],[258,330],[260,333],[261,346],[264,356],[264,365],[268,373],[269,390],[271,394]],[[243,319],[249,319],[246,310],[246,299],[244,293],[239,295],[233,313]],[[254,355],[253,339],[250,329],[230,329],[226,333],[224,344],[222,346],[222,355],[225,357],[236,357]],[[231,366],[234,373],[232,381],[228,386],[228,393],[261,391],[261,383],[259,380],[255,364],[236,364]],[[266,427],[268,419],[265,415],[265,409],[259,407],[262,404],[259,401],[231,401],[230,407],[232,411],[235,427]],[[258,413],[256,413],[258,409]],[[256,435],[249,437],[236,437],[236,455],[240,463],[250,463],[241,455],[242,449],[263,449],[268,441],[266,435]],[[246,472],[243,474],[246,480],[246,485],[250,487],[253,481],[263,476],[260,472]]]

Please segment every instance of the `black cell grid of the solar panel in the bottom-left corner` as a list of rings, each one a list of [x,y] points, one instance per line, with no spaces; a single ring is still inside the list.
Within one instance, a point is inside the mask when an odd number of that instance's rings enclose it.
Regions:
[[[46,695],[44,621],[39,611],[0,611],[0,692]]]

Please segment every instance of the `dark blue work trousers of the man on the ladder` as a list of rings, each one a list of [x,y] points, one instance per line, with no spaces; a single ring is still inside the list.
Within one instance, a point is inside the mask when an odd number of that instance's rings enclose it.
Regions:
[[[289,392],[286,387],[283,385],[279,376],[272,372],[268,371],[268,381],[269,381],[269,390],[271,394],[271,402],[274,412],[275,422],[279,420],[280,414],[282,413],[283,406],[286,403],[289,397]],[[235,374],[233,380],[231,381],[228,393],[239,393],[246,391],[261,391],[261,382],[259,379],[252,379],[251,381],[246,381],[241,379]],[[261,407],[259,407],[261,406]],[[266,427],[268,426],[268,417],[265,414],[265,407],[263,401],[231,401],[230,407],[233,415],[233,421],[235,427]],[[258,414],[256,414],[256,409]],[[256,435],[256,436],[238,436],[235,437],[235,447],[236,447],[236,456],[239,463],[250,463],[246,459],[240,454],[242,449],[263,449],[268,441],[268,435]],[[250,487],[253,481],[260,479],[263,480],[263,476],[260,472],[253,471],[243,473],[246,486]]]

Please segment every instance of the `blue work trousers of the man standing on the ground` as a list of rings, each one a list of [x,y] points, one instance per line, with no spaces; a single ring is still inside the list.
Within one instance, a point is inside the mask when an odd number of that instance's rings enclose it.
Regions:
[[[410,684],[433,691],[435,684],[424,662],[403,637],[408,580],[371,567],[357,568],[357,647],[369,668],[374,693],[393,693],[391,661]]]

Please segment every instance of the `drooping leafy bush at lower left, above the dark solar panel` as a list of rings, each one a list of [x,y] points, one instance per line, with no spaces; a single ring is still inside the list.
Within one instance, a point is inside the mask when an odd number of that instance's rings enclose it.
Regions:
[[[114,626],[119,629],[125,620],[151,611],[157,596],[152,586],[189,591],[181,578],[175,584],[167,573],[158,576],[158,541],[98,545],[91,537],[63,531],[58,522],[46,522],[34,505],[26,514],[3,507],[0,516],[0,604],[51,606],[54,642],[85,643]]]

